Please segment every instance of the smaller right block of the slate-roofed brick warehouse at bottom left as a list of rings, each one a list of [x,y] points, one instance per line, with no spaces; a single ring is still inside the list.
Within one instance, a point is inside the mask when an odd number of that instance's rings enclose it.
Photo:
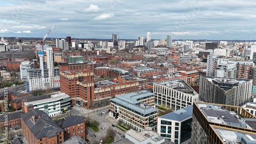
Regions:
[[[86,117],[70,115],[55,121],[64,130],[64,140],[73,136],[86,139]]]

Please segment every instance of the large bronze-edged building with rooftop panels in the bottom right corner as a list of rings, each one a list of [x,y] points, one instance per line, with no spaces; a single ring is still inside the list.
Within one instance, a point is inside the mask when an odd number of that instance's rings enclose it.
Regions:
[[[245,108],[194,102],[191,143],[255,143],[256,116]]]

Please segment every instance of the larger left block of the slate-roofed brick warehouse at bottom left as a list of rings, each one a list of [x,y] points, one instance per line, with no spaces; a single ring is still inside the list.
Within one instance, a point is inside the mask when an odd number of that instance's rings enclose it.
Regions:
[[[21,115],[22,133],[28,143],[58,144],[64,142],[63,129],[42,110]]]

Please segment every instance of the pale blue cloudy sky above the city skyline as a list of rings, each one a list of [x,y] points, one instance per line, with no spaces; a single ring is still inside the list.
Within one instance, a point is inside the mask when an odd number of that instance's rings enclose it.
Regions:
[[[0,36],[256,39],[255,0],[0,0]]]

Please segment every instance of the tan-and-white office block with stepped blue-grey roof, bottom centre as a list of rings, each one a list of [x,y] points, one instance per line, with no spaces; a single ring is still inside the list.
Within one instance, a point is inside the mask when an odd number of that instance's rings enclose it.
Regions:
[[[158,110],[154,104],[154,93],[147,90],[120,95],[110,100],[110,116],[130,125],[137,131],[157,127]]]

